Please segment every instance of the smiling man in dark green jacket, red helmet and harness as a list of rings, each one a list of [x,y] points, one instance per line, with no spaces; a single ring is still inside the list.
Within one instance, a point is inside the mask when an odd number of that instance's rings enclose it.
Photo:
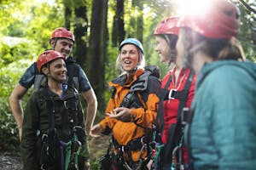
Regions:
[[[80,149],[79,160],[84,164],[84,116],[77,90],[63,83],[67,78],[65,58],[55,50],[47,50],[38,56],[37,64],[46,81],[26,105],[20,141],[24,169],[82,167],[73,155]],[[74,148],[76,144],[80,146]]]

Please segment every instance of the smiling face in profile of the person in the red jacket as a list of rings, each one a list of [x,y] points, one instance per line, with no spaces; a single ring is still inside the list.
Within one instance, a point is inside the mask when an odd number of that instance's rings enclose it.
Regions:
[[[160,62],[169,64],[171,59],[171,48],[166,42],[166,39],[164,37],[155,36],[155,42],[156,46],[154,49],[160,56]]]

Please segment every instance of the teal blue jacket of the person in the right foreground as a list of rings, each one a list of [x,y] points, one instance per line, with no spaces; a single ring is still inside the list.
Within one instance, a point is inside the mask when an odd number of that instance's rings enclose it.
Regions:
[[[231,60],[203,66],[186,127],[194,169],[256,168],[256,65]]]

